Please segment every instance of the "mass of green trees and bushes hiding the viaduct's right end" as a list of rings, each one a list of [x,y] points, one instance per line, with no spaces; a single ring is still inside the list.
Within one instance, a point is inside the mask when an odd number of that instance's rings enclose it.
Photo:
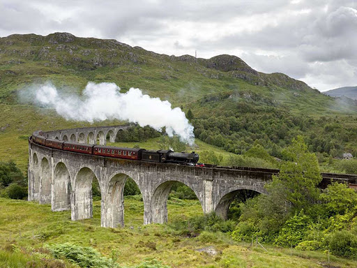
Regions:
[[[317,157],[298,137],[282,151],[288,161],[266,185],[268,195],[241,204],[232,238],[259,239],[305,250],[326,249],[357,258],[357,193],[345,184],[331,184],[322,193]]]

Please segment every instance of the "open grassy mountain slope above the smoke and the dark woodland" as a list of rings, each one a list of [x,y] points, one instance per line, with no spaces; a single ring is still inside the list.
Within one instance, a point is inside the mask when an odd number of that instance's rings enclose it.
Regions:
[[[116,82],[123,91],[139,87],[176,105],[197,101],[208,93],[241,91],[244,95],[248,91],[264,95],[277,105],[288,105],[296,112],[308,107],[321,113],[334,106],[332,99],[304,82],[282,73],[259,73],[234,56],[174,57],[116,40],[77,38],[68,33],[0,38],[2,101],[16,103],[15,90],[47,80],[77,91],[88,81]]]

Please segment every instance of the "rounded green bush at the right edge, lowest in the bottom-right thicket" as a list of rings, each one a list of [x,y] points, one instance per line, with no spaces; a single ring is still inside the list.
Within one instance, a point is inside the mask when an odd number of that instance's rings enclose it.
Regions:
[[[327,238],[331,253],[346,258],[357,258],[357,237],[346,230],[333,232]]]

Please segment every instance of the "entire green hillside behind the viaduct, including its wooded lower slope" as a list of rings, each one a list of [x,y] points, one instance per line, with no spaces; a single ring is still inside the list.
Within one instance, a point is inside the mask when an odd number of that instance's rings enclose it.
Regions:
[[[89,126],[33,106],[31,95],[24,101],[24,93],[45,82],[75,94],[88,82],[115,82],[122,92],[138,87],[192,110],[195,136],[235,154],[258,142],[280,157],[296,135],[325,157],[357,153],[357,105],[349,99],[331,98],[282,73],[259,73],[235,56],[174,57],[55,33],[0,38],[0,142],[8,144],[0,156],[16,161],[26,155],[26,135],[35,129]]]

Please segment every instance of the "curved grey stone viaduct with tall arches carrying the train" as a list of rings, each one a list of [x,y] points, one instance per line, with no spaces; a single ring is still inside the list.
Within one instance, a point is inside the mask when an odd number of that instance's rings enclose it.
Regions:
[[[45,133],[46,137],[95,143],[92,137],[117,133],[128,126],[75,128]],[[93,135],[92,135],[92,134]],[[101,134],[102,133],[102,134]],[[104,138],[103,138],[104,137]],[[215,211],[227,217],[229,204],[237,191],[248,189],[266,193],[264,185],[278,170],[147,163],[106,158],[52,149],[29,140],[29,200],[51,204],[52,211],[71,210],[73,221],[93,216],[92,181],[98,179],[101,192],[101,226],[116,228],[124,224],[123,189],[129,177],[135,181],[144,202],[144,224],[167,222],[167,198],[175,181],[190,187],[204,213]],[[357,176],[323,174],[324,184],[331,179],[357,183]]]

